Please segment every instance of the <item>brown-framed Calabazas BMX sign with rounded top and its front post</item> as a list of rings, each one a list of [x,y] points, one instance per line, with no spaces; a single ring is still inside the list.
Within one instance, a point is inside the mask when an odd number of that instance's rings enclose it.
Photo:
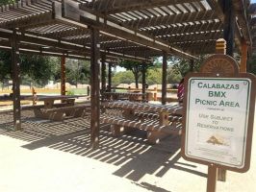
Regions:
[[[182,156],[208,165],[207,191],[216,190],[218,168],[249,169],[255,76],[238,71],[236,60],[214,55],[185,78]]]

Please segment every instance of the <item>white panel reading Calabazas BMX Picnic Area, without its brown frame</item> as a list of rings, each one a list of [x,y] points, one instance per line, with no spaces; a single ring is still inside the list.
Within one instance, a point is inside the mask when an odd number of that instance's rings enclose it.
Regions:
[[[190,78],[185,155],[243,168],[251,81]]]

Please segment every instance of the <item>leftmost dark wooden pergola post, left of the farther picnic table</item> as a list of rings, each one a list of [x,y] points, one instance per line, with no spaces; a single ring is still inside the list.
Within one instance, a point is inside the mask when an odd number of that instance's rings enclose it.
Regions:
[[[20,117],[20,63],[16,32],[13,31],[12,43],[12,78],[13,78],[13,128],[22,130]]]

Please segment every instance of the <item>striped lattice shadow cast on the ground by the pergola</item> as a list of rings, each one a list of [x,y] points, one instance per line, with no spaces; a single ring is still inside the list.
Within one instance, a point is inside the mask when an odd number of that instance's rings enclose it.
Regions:
[[[12,113],[9,114],[11,119],[12,115]],[[4,122],[0,122],[0,126],[2,124]],[[181,158],[180,136],[168,136],[160,144],[150,145],[147,143],[145,132],[138,130],[120,137],[113,137],[109,126],[102,125],[100,146],[96,150],[91,150],[89,117],[56,122],[37,119],[31,111],[26,111],[22,114],[22,128],[23,131],[2,132],[2,134],[27,141],[28,144],[22,147],[28,150],[48,147],[114,164],[119,167],[113,173],[115,176],[135,182],[147,174],[161,178],[170,169],[207,177],[206,174],[196,171],[195,165],[178,162]],[[165,189],[159,189],[149,183],[140,183],[140,185],[152,191],[166,192]]]

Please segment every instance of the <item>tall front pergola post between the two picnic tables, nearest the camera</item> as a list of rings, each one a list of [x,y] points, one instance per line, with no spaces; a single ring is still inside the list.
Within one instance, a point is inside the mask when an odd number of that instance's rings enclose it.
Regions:
[[[99,31],[91,29],[90,58],[90,144],[92,149],[99,146]]]

